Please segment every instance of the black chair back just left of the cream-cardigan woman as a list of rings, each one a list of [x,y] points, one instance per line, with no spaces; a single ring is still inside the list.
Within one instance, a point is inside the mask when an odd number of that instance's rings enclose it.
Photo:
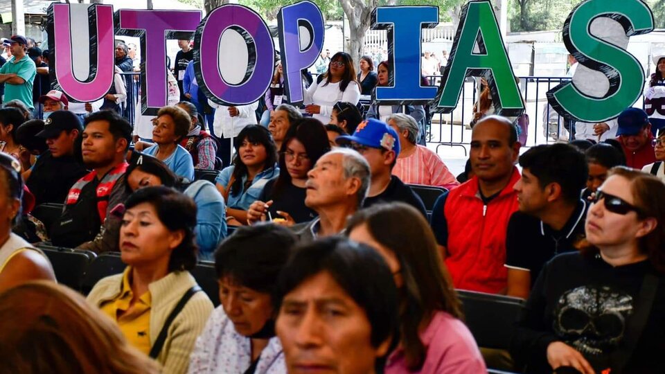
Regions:
[[[81,291],[83,274],[97,255],[91,251],[39,245],[53,265],[57,283]]]

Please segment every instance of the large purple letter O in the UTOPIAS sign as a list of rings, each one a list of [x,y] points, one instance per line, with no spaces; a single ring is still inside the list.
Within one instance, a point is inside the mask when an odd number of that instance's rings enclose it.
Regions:
[[[224,39],[227,30],[235,31],[240,38],[236,38],[236,42],[233,38]],[[238,82],[229,83],[220,70],[227,69],[219,62],[220,51],[233,56],[245,48],[248,53],[245,74]],[[220,105],[254,103],[265,94],[272,80],[274,50],[268,26],[254,10],[237,4],[215,8],[201,22],[194,36],[194,71],[199,88]]]

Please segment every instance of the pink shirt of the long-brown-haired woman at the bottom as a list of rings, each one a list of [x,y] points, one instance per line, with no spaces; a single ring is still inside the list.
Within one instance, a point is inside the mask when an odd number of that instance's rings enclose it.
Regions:
[[[420,335],[427,348],[420,371],[407,369],[404,351],[398,347],[388,357],[386,374],[478,374],[487,373],[480,350],[465,324],[446,312],[436,312]]]

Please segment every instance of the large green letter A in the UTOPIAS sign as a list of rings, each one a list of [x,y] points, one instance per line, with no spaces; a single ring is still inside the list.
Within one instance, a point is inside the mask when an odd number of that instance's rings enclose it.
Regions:
[[[524,112],[522,95],[517,88],[490,1],[469,1],[462,9],[460,19],[450,58],[443,71],[441,87],[432,102],[432,112],[452,112],[457,105],[464,79],[484,75],[497,114],[520,116]],[[476,42],[480,53],[473,52]],[[435,104],[437,102],[438,105]]]

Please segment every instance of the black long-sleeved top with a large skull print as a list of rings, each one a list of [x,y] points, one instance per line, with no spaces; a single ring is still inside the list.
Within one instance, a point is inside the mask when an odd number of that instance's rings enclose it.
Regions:
[[[547,346],[563,341],[601,373],[623,343],[644,275],[653,271],[649,260],[612,267],[600,255],[556,256],[541,271],[517,324],[513,359],[526,363],[527,373],[551,373]],[[657,277],[651,312],[623,373],[665,373],[665,282]]]

